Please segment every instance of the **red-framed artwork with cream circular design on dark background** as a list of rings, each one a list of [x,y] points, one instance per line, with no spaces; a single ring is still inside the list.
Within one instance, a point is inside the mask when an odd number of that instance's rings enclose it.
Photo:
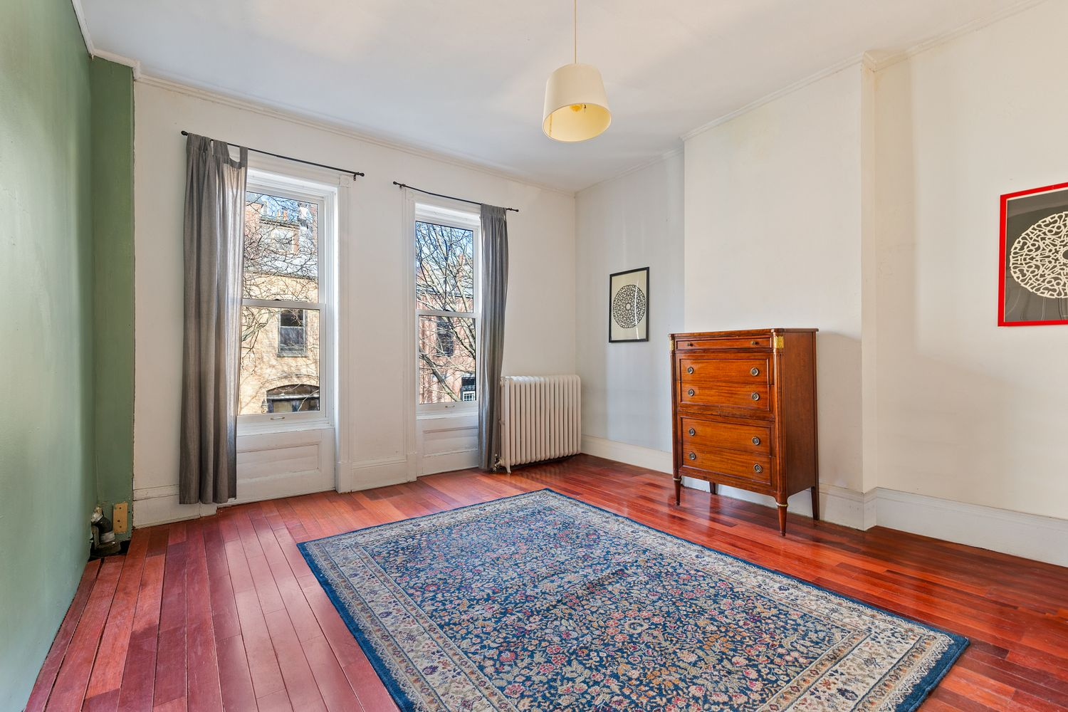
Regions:
[[[999,327],[1068,323],[1068,183],[1001,196]]]

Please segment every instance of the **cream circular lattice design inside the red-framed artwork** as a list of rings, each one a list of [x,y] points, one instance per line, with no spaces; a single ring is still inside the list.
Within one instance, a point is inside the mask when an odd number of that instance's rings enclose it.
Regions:
[[[1012,243],[1009,271],[1039,297],[1068,297],[1068,212],[1055,212],[1025,230]]]

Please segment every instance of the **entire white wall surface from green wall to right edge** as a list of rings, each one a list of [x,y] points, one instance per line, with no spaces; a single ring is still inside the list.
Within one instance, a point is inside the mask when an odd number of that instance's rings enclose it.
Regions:
[[[817,327],[821,481],[854,508],[838,521],[867,526],[878,509],[882,524],[1054,560],[1064,522],[1026,516],[1068,519],[1068,328],[999,329],[995,273],[998,196],[1068,180],[1066,21],[1068,4],[1046,2],[875,73],[858,64],[575,200],[139,83],[135,487],[176,482],[186,128],[367,172],[351,190],[347,308],[363,321],[340,456],[367,481],[413,472],[400,179],[522,209],[505,371],[577,369],[586,449],[670,470],[669,332]],[[644,266],[650,341],[610,345],[608,274]],[[431,432],[443,452],[469,437]],[[1015,543],[999,539],[1005,510],[1025,515],[1008,518]],[[1020,535],[1035,522],[1058,533],[1034,537],[1045,552]]]

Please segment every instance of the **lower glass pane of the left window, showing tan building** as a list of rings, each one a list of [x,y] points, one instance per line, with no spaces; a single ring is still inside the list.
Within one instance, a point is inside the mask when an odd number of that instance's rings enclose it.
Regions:
[[[319,410],[319,312],[241,308],[240,415]]]

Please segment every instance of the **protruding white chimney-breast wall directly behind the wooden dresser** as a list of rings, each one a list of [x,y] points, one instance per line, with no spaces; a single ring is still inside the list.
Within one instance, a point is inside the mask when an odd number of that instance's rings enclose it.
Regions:
[[[820,481],[854,491],[863,81],[844,69],[686,142],[686,331],[818,328]]]

